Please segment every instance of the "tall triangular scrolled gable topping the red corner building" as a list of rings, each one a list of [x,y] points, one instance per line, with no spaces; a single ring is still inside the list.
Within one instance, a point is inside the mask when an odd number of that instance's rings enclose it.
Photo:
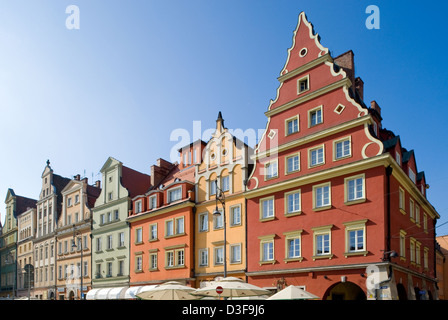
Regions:
[[[279,177],[284,175],[286,157],[292,153],[299,153],[299,170],[288,178],[383,153],[373,130],[374,123],[381,126],[381,117],[372,115],[374,111],[362,101],[362,80],[354,78],[353,52],[332,58],[303,12],[278,80],[277,97],[265,112],[268,122],[255,149],[256,167],[248,190],[275,181],[266,179],[269,162],[276,162]],[[351,144],[350,155],[335,161],[334,142],[344,138]],[[324,147],[324,162],[312,166],[310,149],[318,146]]]

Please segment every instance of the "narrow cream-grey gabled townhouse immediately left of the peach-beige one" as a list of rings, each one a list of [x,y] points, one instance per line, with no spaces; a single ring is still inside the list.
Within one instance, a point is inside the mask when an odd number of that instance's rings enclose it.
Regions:
[[[57,296],[55,231],[62,212],[61,191],[70,179],[54,174],[50,161],[47,161],[41,178],[34,238],[34,296],[41,300],[53,300]]]

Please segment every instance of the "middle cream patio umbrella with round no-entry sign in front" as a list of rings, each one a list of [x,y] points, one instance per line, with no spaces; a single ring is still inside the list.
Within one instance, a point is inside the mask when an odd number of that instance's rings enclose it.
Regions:
[[[223,292],[221,294],[216,292],[217,287],[222,287]],[[269,294],[269,291],[253,284],[246,283],[241,279],[227,277],[212,285],[196,289],[193,294],[207,297],[251,297]]]

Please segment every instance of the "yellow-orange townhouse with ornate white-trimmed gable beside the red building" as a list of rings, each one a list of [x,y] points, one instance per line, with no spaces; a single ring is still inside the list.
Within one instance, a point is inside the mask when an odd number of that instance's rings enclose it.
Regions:
[[[216,130],[196,167],[195,277],[198,288],[223,277],[224,268],[227,276],[245,280],[246,205],[243,192],[250,172],[248,159],[251,153],[251,148],[224,127],[219,113]],[[221,201],[217,201],[217,196]],[[216,209],[220,215],[213,214]]]

